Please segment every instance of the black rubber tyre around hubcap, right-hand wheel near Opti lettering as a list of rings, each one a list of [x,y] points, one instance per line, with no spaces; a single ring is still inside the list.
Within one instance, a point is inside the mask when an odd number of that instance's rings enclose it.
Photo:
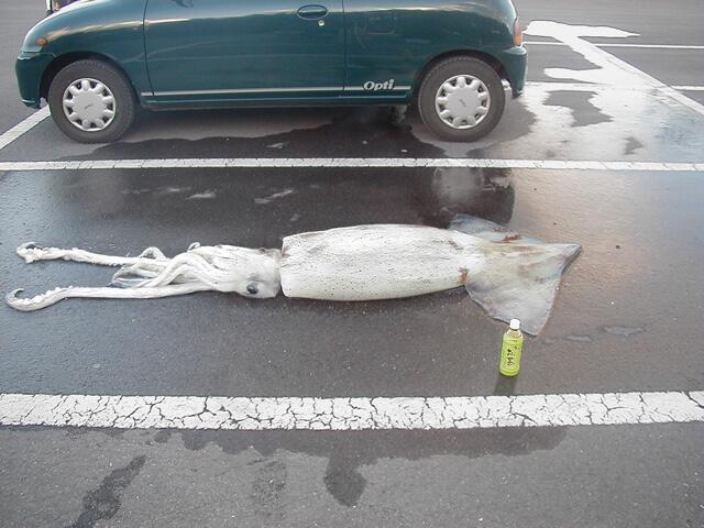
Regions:
[[[455,129],[446,123],[436,110],[436,96],[440,87],[458,75],[468,75],[481,80],[488,89],[488,109],[476,125]],[[484,138],[501,120],[506,105],[502,79],[494,68],[474,57],[451,57],[438,63],[422,79],[418,92],[418,111],[426,127],[446,141],[471,142]],[[469,124],[464,124],[469,125]]]

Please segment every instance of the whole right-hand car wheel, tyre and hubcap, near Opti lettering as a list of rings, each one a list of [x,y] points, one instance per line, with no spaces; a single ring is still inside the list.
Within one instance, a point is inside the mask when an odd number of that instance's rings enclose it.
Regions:
[[[418,109],[426,127],[446,141],[476,141],[488,134],[504,113],[502,79],[474,57],[437,64],[422,80]]]

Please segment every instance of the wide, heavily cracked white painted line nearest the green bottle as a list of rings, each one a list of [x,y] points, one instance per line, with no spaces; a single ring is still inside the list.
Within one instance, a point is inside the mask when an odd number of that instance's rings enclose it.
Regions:
[[[704,392],[396,398],[0,394],[0,426],[372,430],[704,421]]]

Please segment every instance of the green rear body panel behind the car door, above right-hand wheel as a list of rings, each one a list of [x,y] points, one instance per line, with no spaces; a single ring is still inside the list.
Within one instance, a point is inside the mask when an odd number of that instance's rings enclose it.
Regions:
[[[436,57],[481,52],[499,59],[514,47],[510,2],[345,0],[344,10],[345,90],[372,98],[380,94],[364,89],[370,80],[393,79],[394,89],[403,91]]]

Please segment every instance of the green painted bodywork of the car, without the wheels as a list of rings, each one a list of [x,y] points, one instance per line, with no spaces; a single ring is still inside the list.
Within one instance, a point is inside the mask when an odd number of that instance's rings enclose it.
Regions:
[[[85,55],[153,108],[404,103],[433,61],[469,53],[516,96],[515,20],[509,0],[80,0],[30,30],[16,74],[29,106],[46,72]]]

